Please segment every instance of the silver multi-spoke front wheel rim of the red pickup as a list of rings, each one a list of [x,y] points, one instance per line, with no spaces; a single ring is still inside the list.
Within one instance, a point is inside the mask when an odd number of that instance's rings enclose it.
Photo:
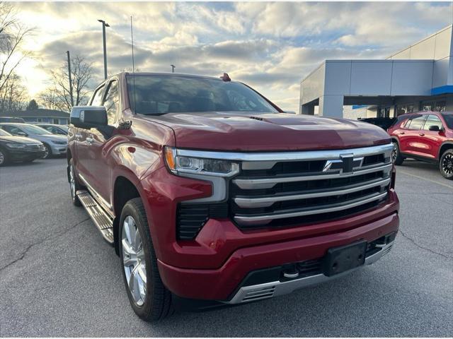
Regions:
[[[122,223],[122,260],[127,286],[137,306],[142,306],[147,294],[147,266],[144,258],[142,237],[132,216]]]

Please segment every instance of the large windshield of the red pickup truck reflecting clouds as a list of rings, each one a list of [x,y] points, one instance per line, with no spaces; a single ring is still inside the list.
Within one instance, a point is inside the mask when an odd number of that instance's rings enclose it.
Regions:
[[[277,109],[242,83],[183,76],[127,76],[131,109],[174,112],[272,112]]]

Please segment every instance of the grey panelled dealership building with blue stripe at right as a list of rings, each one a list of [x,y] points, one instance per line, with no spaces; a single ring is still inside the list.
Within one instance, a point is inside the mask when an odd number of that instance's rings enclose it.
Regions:
[[[384,60],[326,60],[300,86],[300,114],[396,117],[453,112],[452,25]]]

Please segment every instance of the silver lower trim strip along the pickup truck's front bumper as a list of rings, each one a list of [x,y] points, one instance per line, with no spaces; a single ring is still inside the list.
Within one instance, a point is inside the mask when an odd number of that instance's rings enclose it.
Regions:
[[[378,261],[382,256],[389,253],[391,247],[393,246],[394,242],[390,242],[386,244],[380,251],[371,256],[367,256],[365,258],[365,265],[371,265]],[[268,299],[270,297],[277,297],[279,295],[287,295],[294,290],[299,290],[299,288],[307,287],[310,285],[316,285],[319,283],[325,283],[336,278],[343,277],[352,273],[353,271],[361,268],[363,266],[359,266],[352,270],[345,271],[338,275],[333,275],[328,277],[327,275],[318,274],[318,275],[311,275],[306,278],[289,280],[289,281],[273,281],[271,283],[264,283],[259,285],[252,285],[252,286],[245,286],[241,287],[236,295],[234,295],[231,300],[228,302],[223,302],[224,304],[241,304],[244,302],[252,302],[261,299]]]

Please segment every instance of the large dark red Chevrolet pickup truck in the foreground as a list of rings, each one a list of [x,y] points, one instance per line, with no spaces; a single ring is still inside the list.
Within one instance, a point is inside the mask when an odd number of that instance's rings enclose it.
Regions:
[[[72,109],[68,138],[72,201],[147,321],[338,278],[398,231],[384,130],[285,114],[226,74],[112,76]]]

